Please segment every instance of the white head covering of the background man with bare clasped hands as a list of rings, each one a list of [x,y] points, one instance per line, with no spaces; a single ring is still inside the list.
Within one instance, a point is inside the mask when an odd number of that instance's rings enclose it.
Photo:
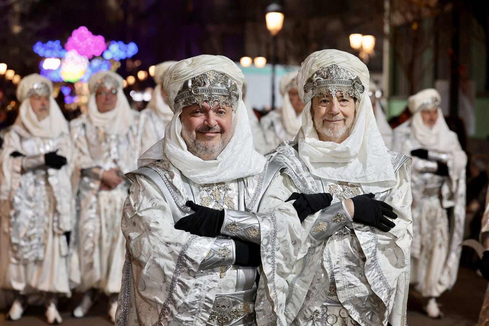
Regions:
[[[133,115],[126,95],[122,90],[122,77],[113,71],[99,71],[89,79],[89,104],[87,115],[90,122],[110,134],[125,134],[132,124]],[[95,96],[99,87],[117,89],[117,102],[115,108],[108,112],[100,112],[97,108]]]

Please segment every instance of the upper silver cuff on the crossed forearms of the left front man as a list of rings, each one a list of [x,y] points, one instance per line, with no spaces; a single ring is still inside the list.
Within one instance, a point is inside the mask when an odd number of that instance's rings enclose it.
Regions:
[[[221,234],[248,242],[261,242],[260,223],[256,214],[251,212],[224,208]]]

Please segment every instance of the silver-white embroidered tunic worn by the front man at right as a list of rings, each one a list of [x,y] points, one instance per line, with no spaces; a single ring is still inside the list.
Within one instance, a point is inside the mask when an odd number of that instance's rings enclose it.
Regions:
[[[285,163],[284,173],[290,175],[300,192],[331,193],[332,206],[365,193],[361,184],[314,179],[292,148],[294,145],[283,143],[270,156],[275,162]],[[325,241],[306,242],[301,250],[304,257],[309,257],[300,261],[302,270],[315,272],[311,283],[295,286],[293,295],[285,301],[288,324],[370,326],[387,325],[389,321],[393,326],[404,325],[412,239],[410,160],[402,154],[390,153],[397,185],[376,196],[394,208],[398,215],[396,226],[389,232],[381,232],[353,222]],[[315,221],[318,214],[308,217],[304,228],[326,231],[328,225]],[[297,303],[302,306],[295,316],[290,311],[296,311]],[[274,325],[274,316],[268,316],[268,325]]]

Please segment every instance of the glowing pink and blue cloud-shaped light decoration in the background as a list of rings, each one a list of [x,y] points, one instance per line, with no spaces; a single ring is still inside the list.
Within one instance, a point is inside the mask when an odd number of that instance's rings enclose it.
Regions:
[[[92,44],[95,41],[97,43],[95,44],[96,46]],[[70,50],[69,52],[67,51],[68,48]],[[105,48],[107,49],[103,51]],[[48,41],[47,43],[42,43],[41,41],[36,42],[32,49],[41,57],[61,59],[61,65],[57,69],[44,69],[44,60],[41,61],[39,65],[41,75],[53,82],[72,83],[77,81],[86,83],[92,74],[98,71],[110,70],[112,65],[109,60],[120,61],[131,58],[138,51],[137,45],[134,42],[126,44],[122,41],[111,41],[107,45],[101,35],[93,35],[85,26],[80,26],[72,32],[71,37],[65,44],[65,48],[63,48],[60,40],[56,40]],[[100,54],[102,54],[102,58],[94,57],[91,59],[91,57]],[[80,60],[83,57],[85,62],[88,62],[88,65],[79,65],[78,70],[73,70],[77,67],[76,65],[73,67],[72,60],[69,60],[73,56],[80,57]],[[79,72],[79,74],[75,72]],[[69,93],[64,95],[69,96],[67,101],[72,100]]]

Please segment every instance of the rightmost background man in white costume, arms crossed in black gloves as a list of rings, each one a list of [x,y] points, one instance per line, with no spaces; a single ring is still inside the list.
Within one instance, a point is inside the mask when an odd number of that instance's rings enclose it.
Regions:
[[[431,318],[441,317],[436,298],[457,279],[466,195],[467,155],[445,123],[440,99],[436,89],[409,97],[413,116],[394,130],[393,145],[413,157],[411,283],[427,299]]]

